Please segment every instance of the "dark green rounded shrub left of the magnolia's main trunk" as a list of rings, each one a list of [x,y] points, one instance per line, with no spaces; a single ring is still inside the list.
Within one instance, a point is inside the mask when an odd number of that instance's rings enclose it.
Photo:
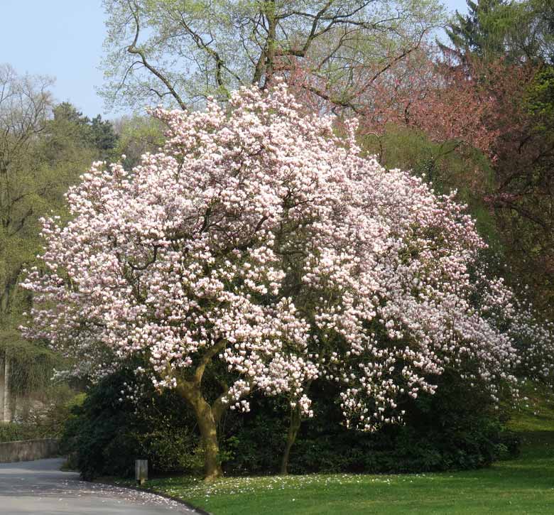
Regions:
[[[90,389],[67,421],[63,451],[84,479],[130,477],[134,460],[146,458],[150,470],[194,471],[202,463],[193,419],[175,392],[158,394],[148,384],[135,403],[136,378],[130,370],[107,376]],[[121,400],[120,400],[121,399]]]

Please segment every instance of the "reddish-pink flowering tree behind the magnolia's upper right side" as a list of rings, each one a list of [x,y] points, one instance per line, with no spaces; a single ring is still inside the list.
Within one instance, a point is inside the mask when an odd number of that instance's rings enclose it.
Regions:
[[[288,60],[281,71],[303,104],[317,112],[354,114],[362,134],[379,136],[391,125],[406,126],[432,141],[455,141],[484,153],[491,153],[499,136],[489,123],[499,105],[482,84],[484,70],[473,62],[457,66],[433,46],[421,44],[386,67],[356,67],[342,81],[314,74],[306,60]],[[499,75],[498,67],[490,71]]]

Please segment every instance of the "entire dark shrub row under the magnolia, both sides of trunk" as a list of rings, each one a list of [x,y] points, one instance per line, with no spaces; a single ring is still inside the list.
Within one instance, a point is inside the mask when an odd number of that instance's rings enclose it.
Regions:
[[[82,477],[131,476],[137,457],[146,457],[155,474],[198,472],[202,451],[184,401],[173,391],[158,394],[144,384],[137,405],[125,399],[135,380],[130,371],[109,376],[74,408],[63,449],[72,453]],[[438,382],[435,396],[421,394],[400,406],[406,409],[406,425],[385,426],[371,434],[344,428],[340,408],[332,401],[337,399],[335,385],[314,383],[315,417],[300,428],[289,471],[459,470],[483,467],[517,452],[517,438],[504,429],[487,394],[469,389],[455,374],[445,374]],[[250,413],[228,411],[219,428],[224,470],[278,472],[288,429],[286,400],[254,395],[250,403]]]

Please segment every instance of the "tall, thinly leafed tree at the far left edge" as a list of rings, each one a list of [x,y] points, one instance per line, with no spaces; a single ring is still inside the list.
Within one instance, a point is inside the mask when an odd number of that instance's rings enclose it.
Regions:
[[[24,303],[16,286],[36,253],[30,242],[37,241],[37,217],[54,185],[32,157],[52,107],[51,84],[48,77],[20,76],[0,66],[0,421],[13,414],[11,379],[17,374],[11,358],[21,343],[13,327]]]

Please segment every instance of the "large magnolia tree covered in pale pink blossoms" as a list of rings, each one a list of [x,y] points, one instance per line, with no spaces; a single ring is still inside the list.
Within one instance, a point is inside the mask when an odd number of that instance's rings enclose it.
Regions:
[[[498,315],[511,297],[470,281],[484,244],[452,197],[359,156],[354,126],[337,139],[282,84],[154,116],[169,127],[159,153],[131,171],[95,163],[67,195],[72,220],[44,221],[26,332],[80,373],[148,359],[194,411],[208,479],[219,419],[254,390],[310,416],[307,385],[326,376],[346,423],[373,430],[445,367],[493,396],[516,389],[521,357]]]

